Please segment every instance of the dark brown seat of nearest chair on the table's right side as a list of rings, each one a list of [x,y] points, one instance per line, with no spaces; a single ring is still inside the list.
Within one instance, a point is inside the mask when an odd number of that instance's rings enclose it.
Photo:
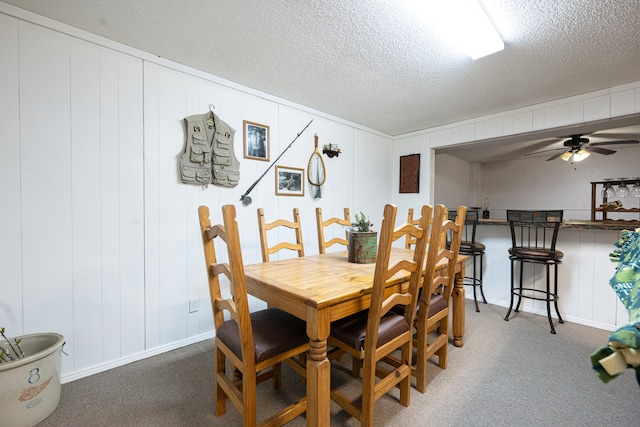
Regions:
[[[369,312],[367,310],[334,322],[331,325],[331,336],[356,350],[362,350],[364,348],[368,316]],[[380,347],[408,330],[409,325],[404,316],[389,312],[380,319],[376,346]]]

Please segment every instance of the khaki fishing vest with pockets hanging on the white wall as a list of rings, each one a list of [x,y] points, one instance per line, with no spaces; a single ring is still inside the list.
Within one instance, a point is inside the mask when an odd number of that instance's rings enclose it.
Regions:
[[[240,162],[233,150],[235,130],[208,112],[184,119],[187,139],[180,155],[180,178],[184,184],[215,184],[235,187],[240,181]]]

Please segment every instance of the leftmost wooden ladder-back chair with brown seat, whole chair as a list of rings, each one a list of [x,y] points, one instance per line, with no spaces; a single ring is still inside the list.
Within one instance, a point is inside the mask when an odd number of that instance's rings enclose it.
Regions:
[[[306,396],[256,424],[256,386],[272,378],[274,388],[280,387],[282,362],[305,376],[305,367],[296,356],[302,357],[309,350],[306,324],[276,308],[249,312],[235,206],[222,207],[224,225],[211,225],[206,206],[198,208],[198,216],[216,330],[216,416],[226,412],[229,399],[242,414],[244,426],[281,426],[306,411]],[[226,243],[228,263],[217,261],[214,240]],[[221,274],[229,281],[230,296],[222,294]],[[226,321],[225,312],[229,317]]]

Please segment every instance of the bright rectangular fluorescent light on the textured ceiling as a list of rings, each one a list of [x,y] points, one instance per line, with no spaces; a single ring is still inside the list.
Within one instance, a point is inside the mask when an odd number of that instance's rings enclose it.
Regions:
[[[473,60],[504,49],[504,42],[478,0],[408,0],[430,29]]]

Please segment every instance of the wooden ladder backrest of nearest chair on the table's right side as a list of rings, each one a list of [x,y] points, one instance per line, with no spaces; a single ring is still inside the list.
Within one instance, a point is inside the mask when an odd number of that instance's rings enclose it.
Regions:
[[[409,325],[413,324],[418,300],[418,291],[426,256],[427,240],[429,237],[429,219],[431,218],[431,206],[425,205],[421,210],[420,223],[418,225],[405,223],[395,227],[396,213],[398,208],[387,204],[384,208],[384,218],[380,226],[380,242],[378,243],[378,253],[376,267],[373,277],[373,292],[369,307],[369,317],[367,320],[367,331],[364,348],[364,358],[377,360],[376,349],[378,341],[378,329],[380,319],[396,305],[405,307],[404,316]],[[391,247],[393,242],[410,234],[416,239],[415,249],[410,258],[396,261],[389,265]],[[405,270],[410,273],[409,287],[407,292],[395,293],[384,298],[387,281],[397,272]],[[411,333],[408,339],[411,340]]]

